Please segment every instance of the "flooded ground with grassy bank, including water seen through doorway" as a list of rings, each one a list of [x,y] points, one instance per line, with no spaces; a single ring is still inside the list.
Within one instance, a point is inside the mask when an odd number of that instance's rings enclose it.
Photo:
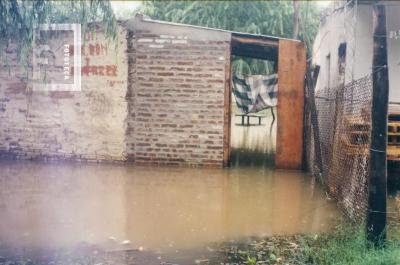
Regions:
[[[233,117],[230,169],[0,161],[0,265],[400,264],[398,241],[368,248],[314,179],[271,169],[262,114]]]

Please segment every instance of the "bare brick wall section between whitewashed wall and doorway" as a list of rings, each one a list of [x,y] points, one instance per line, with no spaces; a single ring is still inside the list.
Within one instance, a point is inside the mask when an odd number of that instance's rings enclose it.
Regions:
[[[230,34],[136,18],[129,157],[140,164],[222,166]]]

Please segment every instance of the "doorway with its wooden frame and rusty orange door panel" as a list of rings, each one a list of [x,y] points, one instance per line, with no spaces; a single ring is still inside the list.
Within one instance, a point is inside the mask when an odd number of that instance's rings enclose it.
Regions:
[[[261,164],[271,167],[275,165],[277,169],[301,169],[306,70],[304,44],[298,40],[232,32],[230,55],[231,60],[225,68],[224,166]],[[249,66],[247,72],[246,65]],[[242,76],[235,75],[238,72]],[[243,74],[251,75],[244,77]],[[275,87],[255,85],[267,84],[271,80],[276,82]],[[233,88],[233,83],[239,88]],[[240,97],[241,89],[247,91],[247,96]],[[276,102],[261,104],[262,107],[259,108],[258,95],[269,98],[266,101],[274,99]],[[247,100],[247,103],[238,104],[240,100]],[[237,113],[235,106],[243,107],[244,111]],[[254,111],[255,109],[259,111]],[[242,115],[236,116],[237,114]],[[271,126],[272,120],[274,122]],[[237,128],[236,124],[242,128]],[[251,143],[258,137],[249,135],[257,134],[250,131],[261,128],[262,125],[267,125],[265,137],[260,140],[264,144]],[[259,131],[264,136],[262,129]],[[242,141],[235,139],[238,134]]]

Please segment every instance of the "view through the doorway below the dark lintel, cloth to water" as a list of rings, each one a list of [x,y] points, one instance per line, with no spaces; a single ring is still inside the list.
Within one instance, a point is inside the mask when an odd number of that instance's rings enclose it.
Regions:
[[[231,64],[231,166],[273,168],[277,62],[233,55]]]

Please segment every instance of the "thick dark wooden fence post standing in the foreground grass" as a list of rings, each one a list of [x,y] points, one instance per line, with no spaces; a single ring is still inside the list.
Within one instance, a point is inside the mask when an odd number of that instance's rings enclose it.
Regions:
[[[368,179],[367,238],[376,246],[381,246],[386,240],[386,145],[389,81],[385,6],[378,5],[378,1],[373,5],[373,28],[372,131]]]

